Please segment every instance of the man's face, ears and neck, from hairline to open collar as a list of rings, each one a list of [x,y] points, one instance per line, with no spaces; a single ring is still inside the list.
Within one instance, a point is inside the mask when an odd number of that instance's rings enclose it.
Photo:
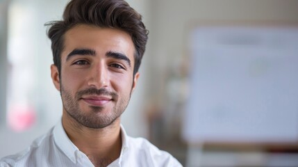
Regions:
[[[107,166],[119,157],[119,117],[138,82],[133,41],[124,31],[81,24],[65,33],[64,42],[60,74],[51,65],[63,127],[94,166]]]

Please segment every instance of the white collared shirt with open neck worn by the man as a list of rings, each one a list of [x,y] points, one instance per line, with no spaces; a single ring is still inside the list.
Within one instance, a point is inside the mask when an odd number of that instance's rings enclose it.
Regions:
[[[121,126],[122,149],[120,157],[113,166],[181,166],[171,154],[158,150],[144,138],[132,138],[126,135]],[[50,129],[47,134],[37,138],[30,147],[18,154],[3,157],[0,167],[15,166],[92,166],[88,157],[78,150],[69,140],[62,122]]]

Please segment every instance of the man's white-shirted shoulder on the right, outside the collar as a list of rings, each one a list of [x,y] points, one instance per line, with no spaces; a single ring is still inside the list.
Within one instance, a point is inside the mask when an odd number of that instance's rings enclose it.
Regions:
[[[153,166],[181,166],[171,154],[159,150],[155,145],[145,138],[127,138],[131,153],[136,154],[139,159],[147,161]]]

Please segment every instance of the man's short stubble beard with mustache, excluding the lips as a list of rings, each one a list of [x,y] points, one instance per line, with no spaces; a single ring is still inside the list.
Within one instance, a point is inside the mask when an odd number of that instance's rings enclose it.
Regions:
[[[60,84],[60,88],[63,108],[66,113],[79,124],[92,129],[101,129],[112,125],[113,122],[122,115],[131,98],[130,93],[126,97],[120,99],[117,93],[109,92],[105,88],[89,88],[81,90],[74,96],[70,90],[64,88],[63,84]],[[101,112],[105,109],[104,106],[88,106],[90,109],[88,109],[88,111],[83,111],[78,104],[78,101],[81,100],[83,95],[108,95],[112,97],[112,100],[109,103],[112,102],[114,104],[113,108],[110,109],[111,111]]]

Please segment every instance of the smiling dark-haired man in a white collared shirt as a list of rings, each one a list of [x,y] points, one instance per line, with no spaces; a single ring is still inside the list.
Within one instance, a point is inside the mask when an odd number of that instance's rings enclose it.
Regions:
[[[62,120],[0,166],[181,166],[120,125],[147,42],[140,14],[123,0],[72,0],[48,25]]]

